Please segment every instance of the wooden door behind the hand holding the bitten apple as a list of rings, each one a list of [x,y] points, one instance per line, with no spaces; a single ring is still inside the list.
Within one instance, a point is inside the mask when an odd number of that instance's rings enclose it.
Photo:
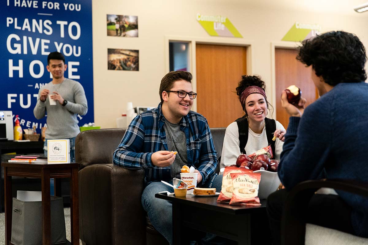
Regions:
[[[290,85],[300,87],[301,96],[307,100],[307,106],[318,98],[318,91],[311,79],[311,66],[305,67],[296,60],[297,50],[288,48],[275,48],[276,71],[276,120],[287,129],[289,115],[281,107],[281,93]]]

